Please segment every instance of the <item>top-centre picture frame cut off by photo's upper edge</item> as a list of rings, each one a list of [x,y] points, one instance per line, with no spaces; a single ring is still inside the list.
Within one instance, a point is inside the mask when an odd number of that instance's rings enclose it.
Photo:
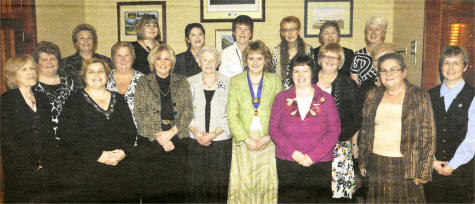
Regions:
[[[239,15],[264,22],[265,0],[200,0],[201,22],[232,22]]]

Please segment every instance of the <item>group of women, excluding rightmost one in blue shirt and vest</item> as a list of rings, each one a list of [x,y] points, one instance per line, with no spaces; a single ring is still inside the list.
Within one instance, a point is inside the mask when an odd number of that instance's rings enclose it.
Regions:
[[[359,171],[370,202],[424,202],[431,100],[405,80],[386,21],[367,21],[355,55],[338,44],[335,22],[312,49],[299,19],[285,17],[273,52],[252,41],[253,26],[238,16],[235,43],[220,54],[204,46],[201,24],[188,24],[188,49],[176,55],[146,15],[112,60],[95,53],[88,24],[63,60],[51,42],[9,59],[5,201],[352,202]]]

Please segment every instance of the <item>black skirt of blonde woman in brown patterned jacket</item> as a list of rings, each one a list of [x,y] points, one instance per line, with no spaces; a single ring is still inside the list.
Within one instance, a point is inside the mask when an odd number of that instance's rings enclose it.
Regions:
[[[155,140],[139,138],[142,169],[142,201],[144,203],[183,203],[189,200],[189,138],[171,141],[175,149],[166,152]]]

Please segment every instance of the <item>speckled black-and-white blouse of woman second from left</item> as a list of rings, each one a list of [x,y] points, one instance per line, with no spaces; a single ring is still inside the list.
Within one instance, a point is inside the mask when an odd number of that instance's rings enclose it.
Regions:
[[[60,140],[58,135],[56,135],[56,130],[58,129],[59,124],[59,115],[61,114],[61,110],[63,110],[66,100],[74,89],[73,80],[66,76],[60,77],[60,83],[58,85],[47,85],[38,82],[35,86],[35,91],[44,93],[48,97],[48,101],[52,106],[51,122],[53,124],[53,130],[57,141]]]

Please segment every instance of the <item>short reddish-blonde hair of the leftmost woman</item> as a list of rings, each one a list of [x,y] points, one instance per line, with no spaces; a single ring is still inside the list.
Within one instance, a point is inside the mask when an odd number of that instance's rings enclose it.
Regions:
[[[10,89],[18,88],[16,81],[16,73],[28,62],[31,62],[36,70],[36,81],[38,81],[38,66],[35,59],[31,55],[18,54],[8,59],[5,69],[3,70],[3,80]]]

